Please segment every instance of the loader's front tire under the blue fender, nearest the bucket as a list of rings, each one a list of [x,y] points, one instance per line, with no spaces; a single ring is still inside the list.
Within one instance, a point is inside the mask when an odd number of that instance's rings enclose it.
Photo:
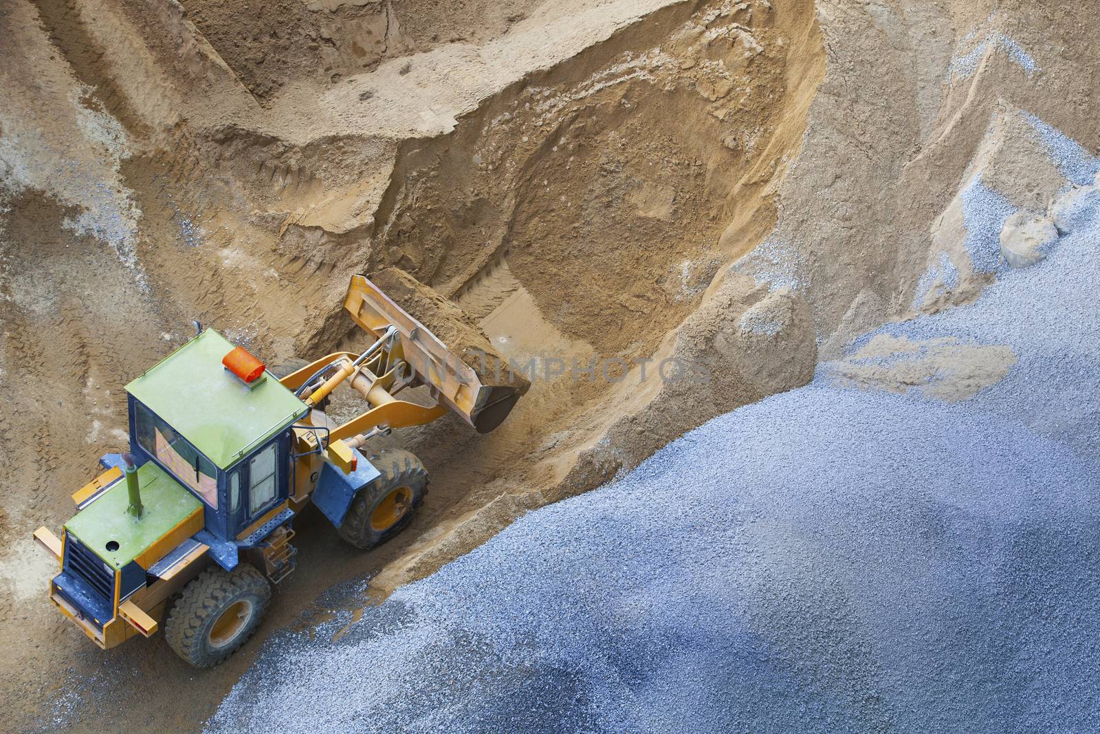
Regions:
[[[367,459],[382,476],[355,494],[337,528],[356,548],[374,548],[405,529],[428,490],[428,472],[410,452],[383,449]]]

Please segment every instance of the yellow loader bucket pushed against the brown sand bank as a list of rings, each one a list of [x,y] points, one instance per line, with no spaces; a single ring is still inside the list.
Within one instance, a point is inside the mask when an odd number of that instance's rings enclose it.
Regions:
[[[458,307],[450,302],[446,302],[446,306],[458,310]],[[461,416],[480,434],[486,434],[499,426],[519,397],[527,392],[526,380],[502,374],[508,371],[502,370],[501,362],[491,362],[486,370],[484,354],[471,355],[472,363],[463,361],[458,351],[449,349],[424,324],[409,316],[393,298],[383,293],[382,288],[363,275],[352,276],[344,298],[344,308],[360,327],[375,338],[381,338],[391,325],[396,327],[399,346],[395,344],[392,353],[403,359],[421,383],[429,385],[433,393],[438,393],[440,403]],[[431,318],[437,324],[440,319],[455,320],[453,315],[448,313],[433,313]],[[469,331],[471,327],[471,322],[461,324],[463,330]]]

